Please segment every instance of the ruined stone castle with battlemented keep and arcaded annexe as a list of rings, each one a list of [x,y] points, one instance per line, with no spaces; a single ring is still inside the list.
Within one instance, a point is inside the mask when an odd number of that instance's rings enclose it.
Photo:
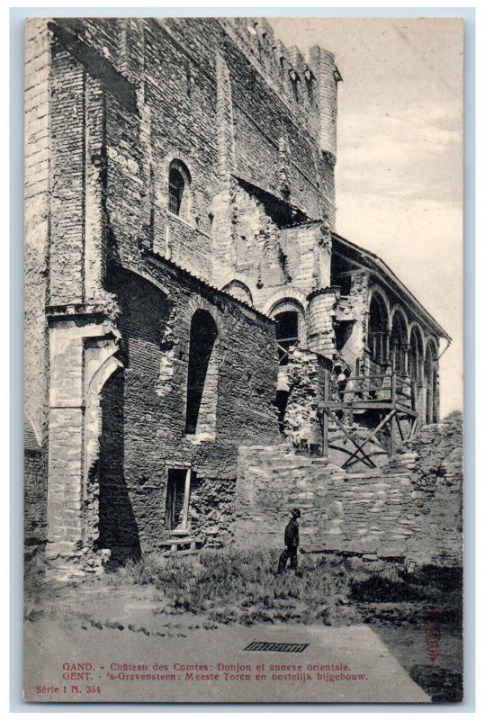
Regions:
[[[248,18],[31,20],[25,43],[27,545],[95,572],[276,542],[291,504],[317,549],[416,537],[379,466],[439,419],[450,338],[334,231],[332,53]]]

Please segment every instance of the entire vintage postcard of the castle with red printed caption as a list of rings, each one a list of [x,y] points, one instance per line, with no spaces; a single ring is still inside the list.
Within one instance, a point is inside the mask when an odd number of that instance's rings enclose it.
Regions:
[[[463,700],[463,21],[25,23],[28,702]]]

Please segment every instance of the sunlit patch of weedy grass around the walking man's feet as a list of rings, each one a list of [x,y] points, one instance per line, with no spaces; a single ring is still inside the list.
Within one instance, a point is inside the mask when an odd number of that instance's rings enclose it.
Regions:
[[[112,584],[152,585],[179,611],[222,623],[275,621],[332,624],[346,603],[348,573],[340,559],[306,555],[301,576],[276,574],[279,551],[203,551],[197,556],[148,556],[106,578]]]

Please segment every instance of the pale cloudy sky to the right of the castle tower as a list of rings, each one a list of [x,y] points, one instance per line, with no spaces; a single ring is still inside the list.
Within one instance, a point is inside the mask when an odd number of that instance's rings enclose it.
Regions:
[[[285,45],[336,55],[337,232],[382,257],[452,336],[440,361],[445,417],[463,401],[462,23],[270,22]]]

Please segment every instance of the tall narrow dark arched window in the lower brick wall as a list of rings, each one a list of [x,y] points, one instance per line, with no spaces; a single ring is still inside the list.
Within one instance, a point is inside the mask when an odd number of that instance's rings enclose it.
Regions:
[[[193,314],[190,330],[185,433],[213,435],[216,427],[218,329],[211,313]]]

